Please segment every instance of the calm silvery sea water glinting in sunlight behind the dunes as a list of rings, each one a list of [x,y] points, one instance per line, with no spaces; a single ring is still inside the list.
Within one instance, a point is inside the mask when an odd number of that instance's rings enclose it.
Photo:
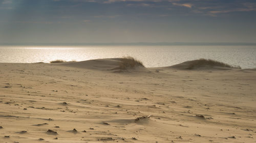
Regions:
[[[85,61],[133,56],[146,67],[164,67],[200,58],[256,68],[256,46],[0,46],[0,63]]]

